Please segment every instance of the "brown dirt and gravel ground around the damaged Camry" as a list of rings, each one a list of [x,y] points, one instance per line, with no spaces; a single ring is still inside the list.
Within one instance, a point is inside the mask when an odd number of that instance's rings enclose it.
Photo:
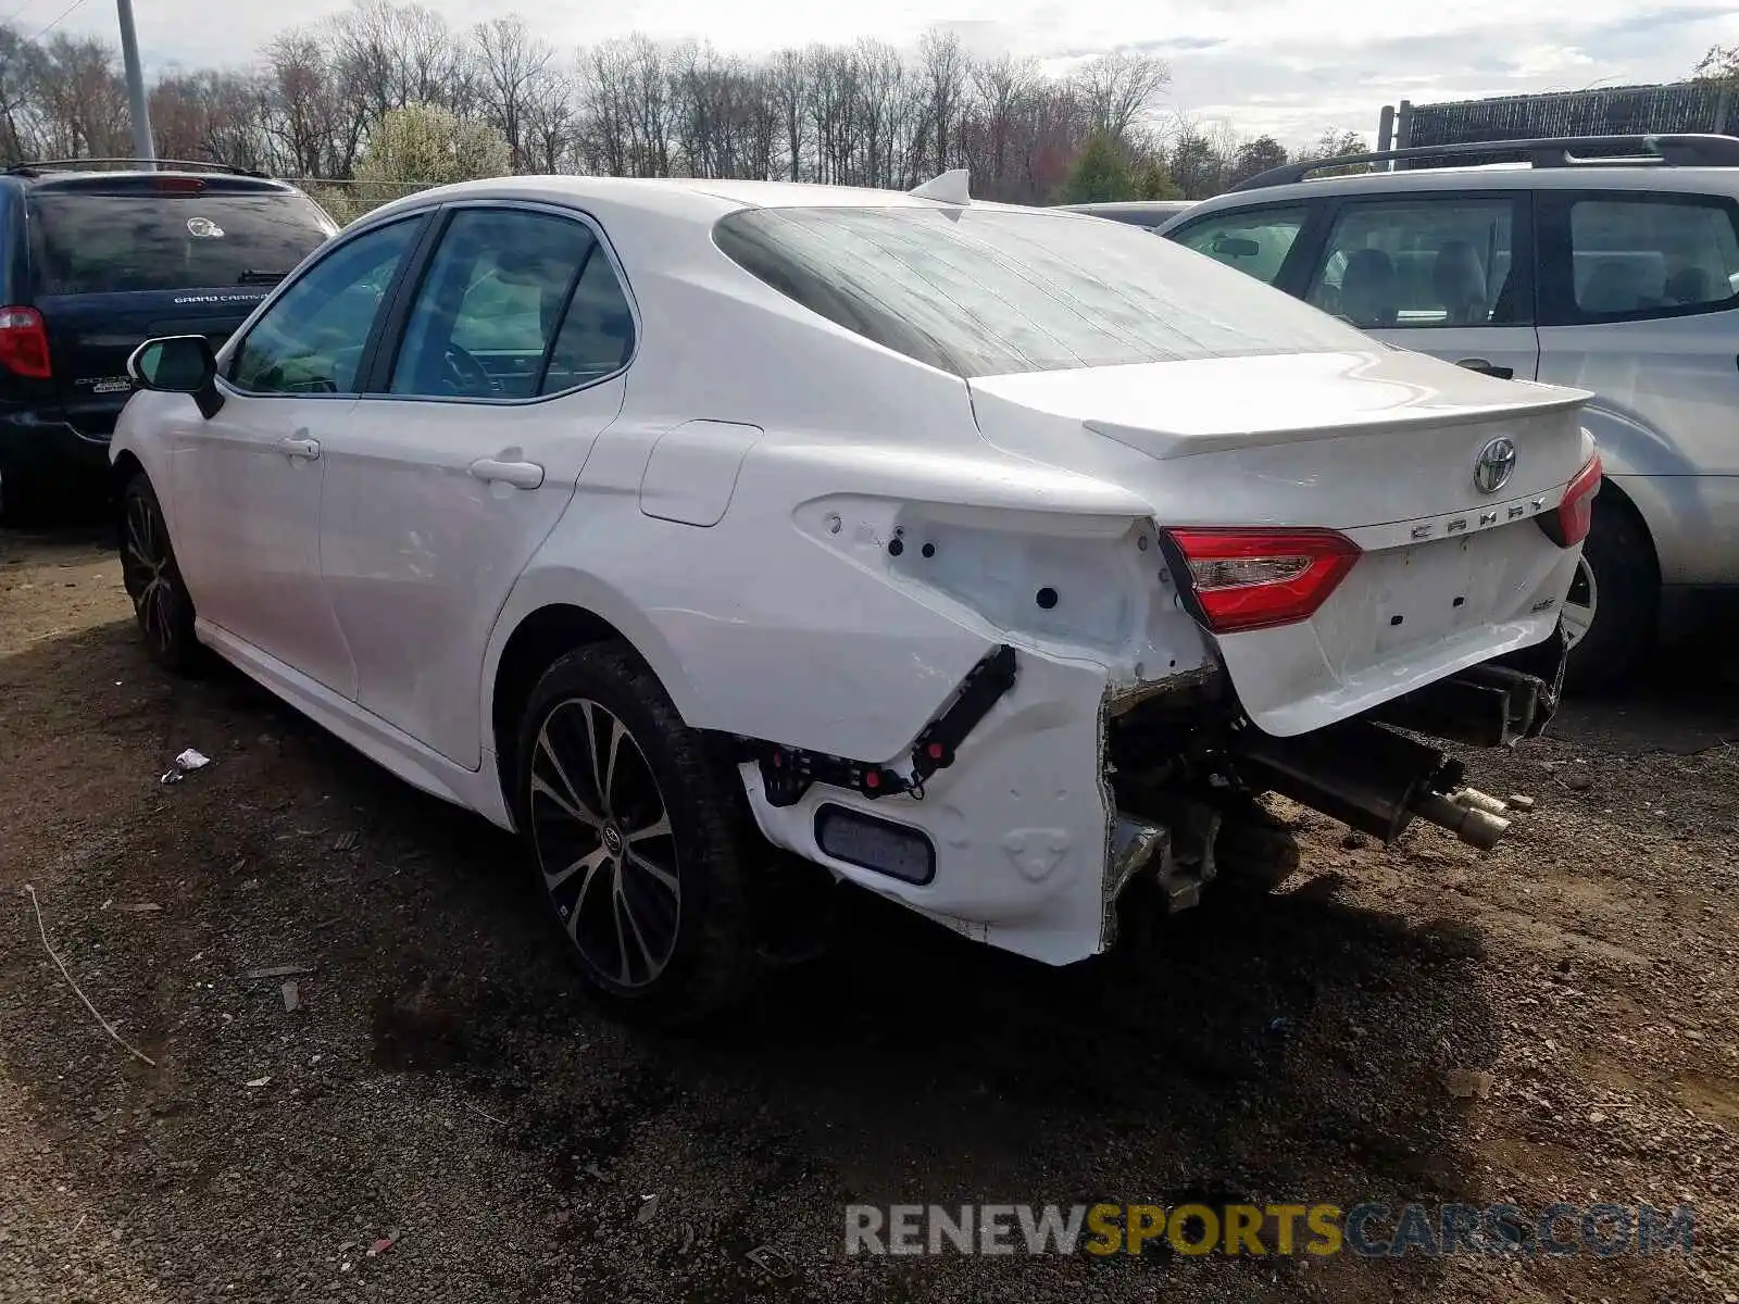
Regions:
[[[106,548],[0,536],[7,1304],[1739,1304],[1730,624],[1473,756],[1539,800],[1489,857],[1306,821],[1280,892],[1179,916],[1139,967],[864,899],[828,958],[675,1038],[576,991],[510,838],[237,675],[157,673]],[[190,746],[214,763],[162,786]],[[238,977],[277,965],[310,970],[294,1012]],[[843,1254],[849,1201],[1191,1198],[1689,1203],[1697,1248]]]

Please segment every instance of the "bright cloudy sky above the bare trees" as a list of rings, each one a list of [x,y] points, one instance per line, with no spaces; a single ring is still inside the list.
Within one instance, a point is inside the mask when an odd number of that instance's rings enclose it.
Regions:
[[[297,21],[344,7],[303,0]],[[454,26],[543,9],[541,35],[567,50],[645,31],[756,52],[875,35],[915,42],[955,28],[974,50],[1042,59],[1132,45],[1172,63],[1169,108],[1229,120],[1289,143],[1325,127],[1376,130],[1396,99],[1431,103],[1523,90],[1576,90],[1685,77],[1711,43],[1739,43],[1739,0],[426,0]],[[0,0],[7,3],[7,0]],[[68,10],[68,5],[71,9]],[[283,26],[264,0],[134,0],[148,68],[242,64]],[[10,0],[26,35],[59,19],[113,35],[113,0]],[[873,17],[866,17],[873,16]]]

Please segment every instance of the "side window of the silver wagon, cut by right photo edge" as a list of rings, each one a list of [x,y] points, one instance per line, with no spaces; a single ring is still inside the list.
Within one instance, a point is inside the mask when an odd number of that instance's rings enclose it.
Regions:
[[[1582,318],[1708,311],[1739,296],[1739,238],[1716,198],[1574,200],[1570,254]]]

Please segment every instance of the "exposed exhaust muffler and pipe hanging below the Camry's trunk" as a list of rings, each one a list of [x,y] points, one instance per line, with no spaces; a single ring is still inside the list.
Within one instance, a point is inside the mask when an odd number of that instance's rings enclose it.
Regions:
[[[1509,807],[1459,784],[1461,767],[1436,748],[1351,720],[1297,737],[1247,729],[1238,768],[1263,788],[1393,843],[1414,817],[1490,850],[1509,831]]]

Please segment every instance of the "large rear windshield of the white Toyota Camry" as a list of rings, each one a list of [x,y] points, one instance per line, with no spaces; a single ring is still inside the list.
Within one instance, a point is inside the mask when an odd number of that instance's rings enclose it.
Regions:
[[[1092,217],[748,209],[715,240],[828,320],[965,377],[1370,348],[1242,271]]]

